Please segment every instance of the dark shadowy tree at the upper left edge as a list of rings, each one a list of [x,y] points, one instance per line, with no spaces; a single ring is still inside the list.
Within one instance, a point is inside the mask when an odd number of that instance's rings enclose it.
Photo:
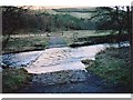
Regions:
[[[10,36],[20,29],[20,17],[22,16],[23,7],[1,7],[2,8],[2,33],[6,37],[2,47],[6,48]]]

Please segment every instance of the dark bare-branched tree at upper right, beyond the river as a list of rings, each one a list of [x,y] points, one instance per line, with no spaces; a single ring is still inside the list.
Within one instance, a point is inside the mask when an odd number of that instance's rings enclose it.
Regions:
[[[130,7],[99,7],[90,20],[94,20],[99,24],[98,30],[112,30],[112,33],[117,31],[119,36],[125,31],[131,34]],[[120,40],[121,38],[117,41]]]

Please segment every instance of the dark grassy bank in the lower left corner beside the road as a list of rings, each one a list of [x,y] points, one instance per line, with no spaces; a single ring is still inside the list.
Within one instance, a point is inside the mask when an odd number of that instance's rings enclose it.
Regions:
[[[14,92],[31,80],[32,76],[24,69],[4,69],[2,71],[2,92]]]

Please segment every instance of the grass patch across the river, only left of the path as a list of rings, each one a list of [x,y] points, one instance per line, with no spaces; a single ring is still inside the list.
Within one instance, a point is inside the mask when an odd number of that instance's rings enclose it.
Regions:
[[[48,46],[48,38],[45,36],[17,36],[11,37],[3,53],[41,50]]]

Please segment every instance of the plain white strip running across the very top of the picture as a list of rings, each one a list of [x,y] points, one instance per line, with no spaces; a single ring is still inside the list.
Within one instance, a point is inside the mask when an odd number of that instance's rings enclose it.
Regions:
[[[131,6],[132,0],[0,0],[1,6],[103,7]]]

